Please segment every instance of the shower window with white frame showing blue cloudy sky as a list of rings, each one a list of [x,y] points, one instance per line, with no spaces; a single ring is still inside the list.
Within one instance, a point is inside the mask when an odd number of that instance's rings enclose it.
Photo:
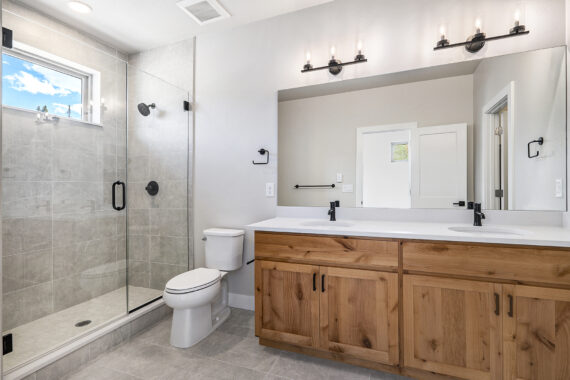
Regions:
[[[2,54],[2,105],[89,120],[91,76],[25,52]]]

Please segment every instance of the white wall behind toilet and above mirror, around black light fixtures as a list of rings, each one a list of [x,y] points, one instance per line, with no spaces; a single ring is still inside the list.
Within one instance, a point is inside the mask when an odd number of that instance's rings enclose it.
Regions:
[[[197,39],[195,259],[204,263],[198,239],[210,226],[243,227],[270,218],[276,199],[265,183],[276,182],[277,91],[331,80],[378,75],[565,43],[564,0],[528,0],[524,37],[488,43],[478,54],[464,49],[433,51],[439,25],[452,41],[473,32],[476,17],[489,35],[505,33],[516,1],[336,0],[333,3]],[[305,51],[324,64],[329,47],[349,60],[358,39],[369,62],[346,67],[338,78],[326,71],[300,72]],[[257,150],[271,163],[254,166]],[[247,236],[246,258],[253,256]],[[253,294],[253,266],[230,276],[230,291]]]

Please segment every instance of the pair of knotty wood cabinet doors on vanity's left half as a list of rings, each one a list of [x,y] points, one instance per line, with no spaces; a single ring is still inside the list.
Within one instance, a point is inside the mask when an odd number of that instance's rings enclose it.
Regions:
[[[256,334],[398,363],[398,275],[259,260]]]

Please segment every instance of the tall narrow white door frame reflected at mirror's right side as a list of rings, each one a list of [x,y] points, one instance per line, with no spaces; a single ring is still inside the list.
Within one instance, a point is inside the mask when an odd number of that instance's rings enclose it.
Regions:
[[[495,136],[495,118],[493,115],[496,111],[503,108],[504,106],[508,107],[508,131],[507,131],[507,160],[508,160],[508,167],[507,167],[507,210],[514,210],[515,209],[515,199],[513,197],[513,189],[514,189],[514,176],[515,171],[513,167],[514,159],[515,159],[515,126],[516,126],[516,118],[515,118],[515,82],[511,81],[507,86],[501,89],[495,96],[491,98],[481,109],[482,115],[482,157],[494,157],[494,149],[493,149],[493,138]],[[485,160],[483,164],[483,176],[481,181],[481,191],[483,192],[481,201],[482,207],[484,209],[488,209],[490,205],[494,203],[495,198],[495,189],[494,183],[495,180],[493,178],[494,171],[493,171],[493,160]]]

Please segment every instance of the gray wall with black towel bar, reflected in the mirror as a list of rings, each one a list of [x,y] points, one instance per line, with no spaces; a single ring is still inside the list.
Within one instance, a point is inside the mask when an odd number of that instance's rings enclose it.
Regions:
[[[356,207],[356,188],[343,193],[342,184],[330,190],[293,186],[335,183],[336,173],[355,186],[356,129],[408,122],[418,127],[467,123],[471,129],[473,76],[280,102],[278,204],[324,207],[338,199],[343,207]],[[468,189],[471,199],[472,186]]]

